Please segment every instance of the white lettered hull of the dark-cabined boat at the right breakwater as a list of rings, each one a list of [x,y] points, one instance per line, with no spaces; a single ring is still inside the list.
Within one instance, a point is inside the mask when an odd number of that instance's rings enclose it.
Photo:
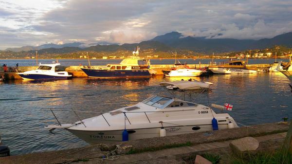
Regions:
[[[239,74],[239,73],[258,73],[256,70],[238,69],[238,68],[209,68],[213,73],[221,74]]]

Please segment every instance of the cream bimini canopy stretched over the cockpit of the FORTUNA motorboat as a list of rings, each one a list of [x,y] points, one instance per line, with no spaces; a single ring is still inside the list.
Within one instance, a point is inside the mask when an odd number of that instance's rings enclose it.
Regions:
[[[160,83],[161,86],[176,86],[180,90],[193,90],[195,88],[210,88],[208,83],[200,82],[200,81],[172,81],[172,82],[162,82]]]

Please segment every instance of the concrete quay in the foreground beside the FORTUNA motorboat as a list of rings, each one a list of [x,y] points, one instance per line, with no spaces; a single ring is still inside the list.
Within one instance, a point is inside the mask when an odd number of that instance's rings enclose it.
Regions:
[[[18,156],[1,157],[0,164],[177,164],[183,159],[203,152],[227,153],[229,143],[242,137],[255,137],[263,150],[280,147],[284,142],[289,125],[280,123],[261,124],[250,127],[222,129],[216,131],[188,133],[175,136],[156,137],[127,141],[115,145],[130,146],[134,154],[127,153],[116,160],[101,161],[98,146],[86,146],[68,150],[39,152]],[[57,135],[57,134],[56,134]],[[114,146],[114,145],[109,145]],[[123,152],[126,153],[126,152]],[[224,163],[225,164],[225,163]]]

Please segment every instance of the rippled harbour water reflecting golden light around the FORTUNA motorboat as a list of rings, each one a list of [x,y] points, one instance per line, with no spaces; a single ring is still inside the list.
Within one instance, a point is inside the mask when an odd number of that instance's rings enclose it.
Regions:
[[[83,111],[110,111],[138,103],[153,92],[159,83],[181,80],[156,76],[141,79],[73,78],[47,82],[8,81],[0,83],[0,133],[10,147],[50,134],[44,128],[55,118],[42,108],[73,108]],[[292,93],[289,80],[282,73],[223,74],[196,77],[214,83],[212,90],[196,98],[197,103],[230,103],[228,113],[243,125],[281,121],[292,116]],[[92,113],[78,113],[82,119]],[[57,112],[64,123],[77,118],[71,112]],[[59,150],[86,146],[87,143],[64,130],[42,140],[12,148],[12,154]]]

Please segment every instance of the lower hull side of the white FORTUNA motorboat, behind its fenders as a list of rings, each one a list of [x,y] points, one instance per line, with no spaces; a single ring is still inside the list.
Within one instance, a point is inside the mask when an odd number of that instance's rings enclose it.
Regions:
[[[194,127],[200,127],[198,130],[193,130]],[[201,132],[212,130],[212,125],[192,125],[192,126],[175,126],[175,127],[164,127],[166,130],[166,136]],[[228,124],[219,124],[219,129],[228,128]],[[141,129],[129,129],[129,140],[138,140],[143,138],[153,138],[160,137],[160,127],[159,128],[141,128]],[[99,144],[99,143],[112,143],[120,142],[122,140],[123,130],[113,130],[113,131],[83,131],[83,130],[71,130],[67,129],[78,138],[86,141],[89,144]],[[134,133],[131,133],[135,131]]]

